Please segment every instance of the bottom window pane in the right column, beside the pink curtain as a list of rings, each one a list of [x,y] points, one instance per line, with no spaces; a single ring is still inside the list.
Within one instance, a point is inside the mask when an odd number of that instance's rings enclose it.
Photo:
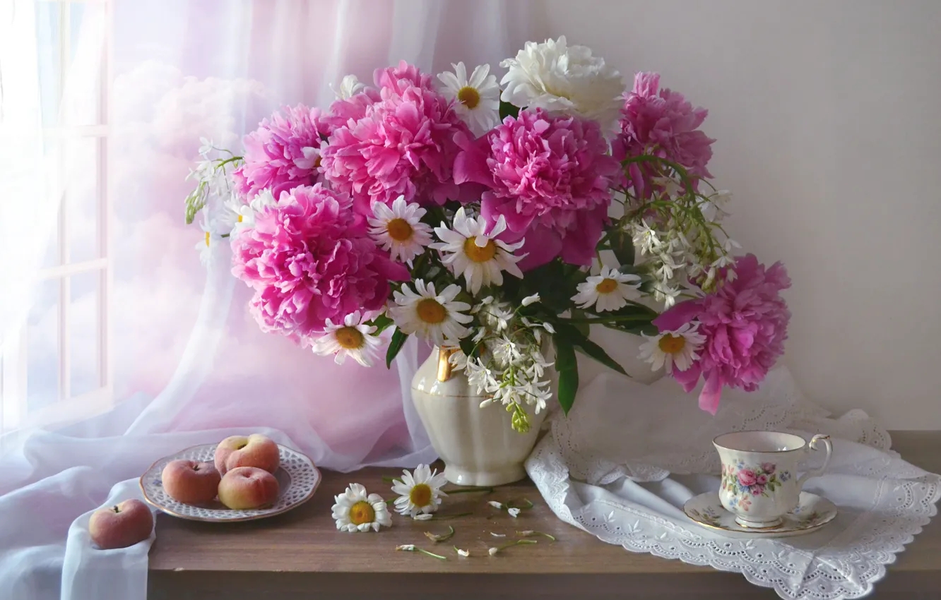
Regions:
[[[70,277],[69,355],[71,356],[72,397],[102,387],[98,365],[101,360],[101,271]]]

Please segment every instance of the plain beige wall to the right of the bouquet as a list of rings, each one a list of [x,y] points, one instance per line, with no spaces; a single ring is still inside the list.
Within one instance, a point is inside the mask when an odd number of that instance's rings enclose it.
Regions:
[[[547,0],[535,30],[710,109],[731,235],[793,279],[805,393],[941,429],[941,0]]]

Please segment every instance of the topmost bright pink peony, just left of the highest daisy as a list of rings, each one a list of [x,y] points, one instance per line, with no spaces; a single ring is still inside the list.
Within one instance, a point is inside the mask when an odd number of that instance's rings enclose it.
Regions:
[[[327,181],[352,196],[362,214],[372,213],[373,200],[391,204],[405,196],[407,201],[443,204],[457,199],[454,137],[467,133],[467,125],[430,87],[428,76],[405,62],[376,71],[375,78],[380,100],[361,101],[362,116],[349,118],[327,140]]]

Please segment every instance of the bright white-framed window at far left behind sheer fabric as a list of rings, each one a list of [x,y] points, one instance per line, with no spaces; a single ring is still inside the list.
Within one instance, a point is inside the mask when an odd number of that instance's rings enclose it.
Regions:
[[[35,3],[43,143],[61,196],[29,317],[0,356],[0,432],[110,407],[106,0]]]

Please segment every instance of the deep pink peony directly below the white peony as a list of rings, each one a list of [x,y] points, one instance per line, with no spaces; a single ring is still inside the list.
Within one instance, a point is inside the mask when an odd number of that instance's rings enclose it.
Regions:
[[[591,263],[620,170],[597,122],[537,108],[504,118],[477,140],[468,134],[456,139],[462,151],[455,182],[489,188],[481,213],[494,222],[506,218],[513,234],[508,242],[525,236],[519,252],[529,256],[520,267],[532,269],[560,254],[566,262]]]

